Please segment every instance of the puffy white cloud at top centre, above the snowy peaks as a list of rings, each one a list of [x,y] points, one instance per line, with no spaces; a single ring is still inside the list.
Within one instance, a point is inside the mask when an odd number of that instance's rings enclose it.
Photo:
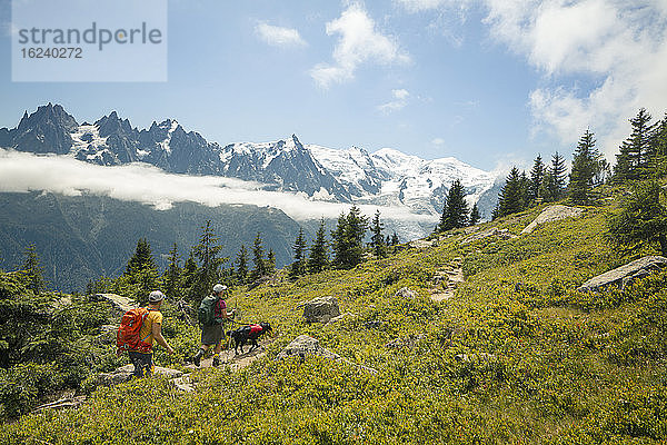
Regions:
[[[390,65],[410,60],[391,37],[376,30],[375,21],[359,3],[350,4],[338,19],[328,22],[327,34],[340,34],[334,63],[319,63],[310,70],[322,88],[354,79],[355,71],[365,62]]]

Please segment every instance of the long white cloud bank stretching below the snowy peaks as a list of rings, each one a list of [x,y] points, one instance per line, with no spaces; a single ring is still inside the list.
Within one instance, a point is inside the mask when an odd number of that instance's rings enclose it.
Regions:
[[[168,174],[147,164],[102,167],[68,156],[38,156],[0,149],[0,192],[49,191],[66,196],[83,192],[137,201],[160,210],[175,202],[192,201],[209,207],[255,205],[273,207],[297,220],[336,218],[350,205],[313,200],[305,194],[262,189],[263,185],[217,176]],[[359,206],[365,215],[380,210],[382,218],[432,222],[407,207]]]

